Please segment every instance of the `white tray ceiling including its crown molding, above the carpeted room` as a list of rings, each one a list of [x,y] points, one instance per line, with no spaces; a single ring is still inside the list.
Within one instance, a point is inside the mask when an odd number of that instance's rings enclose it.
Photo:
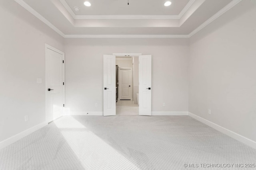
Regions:
[[[242,0],[170,0],[168,7],[166,0],[15,1],[67,38],[188,38]]]

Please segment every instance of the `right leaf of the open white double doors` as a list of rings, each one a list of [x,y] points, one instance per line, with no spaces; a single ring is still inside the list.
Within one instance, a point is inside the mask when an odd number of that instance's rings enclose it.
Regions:
[[[151,115],[151,55],[139,56],[139,115]]]

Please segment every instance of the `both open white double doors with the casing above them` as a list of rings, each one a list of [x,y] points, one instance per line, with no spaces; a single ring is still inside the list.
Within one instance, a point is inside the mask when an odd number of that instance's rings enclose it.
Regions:
[[[113,53],[113,55],[103,55],[103,115],[116,115],[116,56],[130,57],[138,59],[138,102],[139,115],[151,115],[151,55],[141,55],[141,53]],[[132,81],[134,83],[134,81]],[[133,84],[134,86],[134,84]],[[135,89],[135,88],[133,88]],[[132,96],[135,90],[132,90]],[[119,97],[119,95],[118,95]]]

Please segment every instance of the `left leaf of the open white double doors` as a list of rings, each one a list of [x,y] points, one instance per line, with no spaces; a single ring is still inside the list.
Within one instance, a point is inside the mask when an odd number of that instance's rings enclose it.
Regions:
[[[116,56],[103,56],[103,115],[116,115]]]

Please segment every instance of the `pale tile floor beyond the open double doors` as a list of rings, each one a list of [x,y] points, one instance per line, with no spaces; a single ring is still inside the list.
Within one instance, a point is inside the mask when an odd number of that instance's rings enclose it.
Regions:
[[[138,104],[131,100],[118,100],[116,102],[116,115],[139,115]]]

